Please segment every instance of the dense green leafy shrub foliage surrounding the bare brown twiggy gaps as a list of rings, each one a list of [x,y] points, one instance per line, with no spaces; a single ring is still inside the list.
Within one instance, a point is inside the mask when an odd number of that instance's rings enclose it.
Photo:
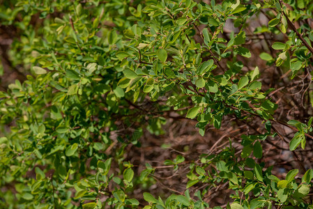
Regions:
[[[275,89],[262,88],[253,62],[291,70],[289,81],[312,72],[312,10],[309,0],[3,1],[1,25],[22,34],[10,59],[26,79],[0,92],[0,207],[209,208],[203,197],[228,183],[227,208],[313,208],[312,169],[280,179],[262,162],[263,141],[284,139],[273,123],[293,131],[290,150],[305,149],[312,117],[277,120]],[[262,13],[270,21],[254,34],[286,41],[254,54],[245,29]],[[227,22],[236,29],[228,39]],[[233,139],[192,162],[178,155],[165,164],[189,164],[183,194],[132,196],[155,183],[155,168],[146,163],[137,175],[127,146],[140,147],[144,132],[167,132],[168,118],[197,120],[203,136],[229,115],[260,121],[259,134],[241,136],[239,155]],[[206,186],[190,193],[196,184]]]

